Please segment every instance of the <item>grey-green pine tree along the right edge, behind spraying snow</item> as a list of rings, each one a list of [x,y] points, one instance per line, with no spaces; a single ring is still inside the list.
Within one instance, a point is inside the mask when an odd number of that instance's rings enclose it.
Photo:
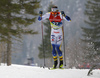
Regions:
[[[82,27],[85,55],[88,60],[95,61],[100,55],[100,0],[87,0],[85,15],[88,17],[87,26]]]

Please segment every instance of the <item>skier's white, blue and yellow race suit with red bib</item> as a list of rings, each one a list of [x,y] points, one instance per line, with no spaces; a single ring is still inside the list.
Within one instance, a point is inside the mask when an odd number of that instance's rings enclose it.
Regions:
[[[57,14],[53,14],[53,12],[48,12],[42,17],[38,17],[38,20],[45,20],[49,19],[51,24],[51,44],[52,44],[52,55],[54,58],[57,57],[57,52],[59,55],[59,58],[62,58],[62,51],[61,51],[61,44],[63,40],[63,30],[62,30],[62,20],[68,20],[70,21],[70,17],[62,16],[60,12],[57,12]],[[57,52],[56,52],[57,51]],[[62,59],[63,60],[63,59]]]

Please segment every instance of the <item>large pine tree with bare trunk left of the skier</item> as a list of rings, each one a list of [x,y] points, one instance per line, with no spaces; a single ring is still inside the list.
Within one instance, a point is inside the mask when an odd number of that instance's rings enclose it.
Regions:
[[[27,29],[35,22],[38,0],[1,0],[0,1],[0,40],[7,44],[7,65],[11,65],[12,40],[21,38],[22,34],[36,34]],[[31,16],[31,17],[30,17]]]

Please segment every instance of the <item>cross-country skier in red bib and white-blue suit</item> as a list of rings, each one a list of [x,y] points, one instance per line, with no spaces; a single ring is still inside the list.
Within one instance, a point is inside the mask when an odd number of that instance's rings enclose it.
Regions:
[[[61,44],[63,40],[63,28],[62,28],[62,20],[65,19],[67,21],[71,21],[70,17],[65,15],[64,11],[59,12],[57,6],[53,6],[51,8],[51,12],[42,15],[42,11],[39,12],[40,16],[38,20],[49,19],[51,24],[51,44],[52,44],[52,55],[54,59],[53,68],[56,69],[58,61],[57,61],[57,53],[59,55],[59,68],[63,67],[63,55],[61,51]],[[57,51],[57,52],[56,52]]]

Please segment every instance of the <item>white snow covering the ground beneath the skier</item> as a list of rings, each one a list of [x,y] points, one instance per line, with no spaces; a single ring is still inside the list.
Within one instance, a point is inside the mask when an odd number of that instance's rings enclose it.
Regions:
[[[11,65],[0,66],[0,78],[100,78],[100,70],[93,70],[87,76],[88,69],[55,69],[36,66]]]

